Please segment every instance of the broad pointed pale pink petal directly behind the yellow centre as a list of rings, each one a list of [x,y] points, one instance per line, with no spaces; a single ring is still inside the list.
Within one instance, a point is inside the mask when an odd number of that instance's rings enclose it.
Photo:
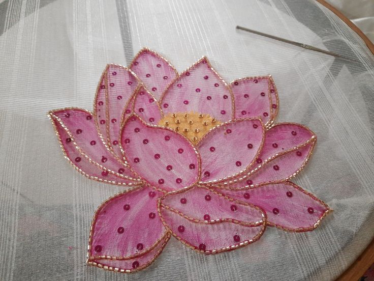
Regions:
[[[205,57],[173,81],[160,104],[164,114],[194,111],[222,122],[233,118],[231,90]]]

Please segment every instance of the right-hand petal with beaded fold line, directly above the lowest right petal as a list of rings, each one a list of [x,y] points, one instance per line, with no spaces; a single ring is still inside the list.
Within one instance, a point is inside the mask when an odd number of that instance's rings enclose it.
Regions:
[[[263,149],[251,171],[220,185],[240,189],[290,179],[304,168],[316,141],[316,135],[300,124],[275,124],[266,131]]]

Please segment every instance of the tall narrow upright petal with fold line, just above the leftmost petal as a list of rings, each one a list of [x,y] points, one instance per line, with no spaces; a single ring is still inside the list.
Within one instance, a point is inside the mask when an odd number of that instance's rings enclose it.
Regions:
[[[134,73],[114,64],[107,65],[98,85],[93,103],[95,122],[102,142],[117,159],[121,159],[118,147],[120,121],[137,87]]]

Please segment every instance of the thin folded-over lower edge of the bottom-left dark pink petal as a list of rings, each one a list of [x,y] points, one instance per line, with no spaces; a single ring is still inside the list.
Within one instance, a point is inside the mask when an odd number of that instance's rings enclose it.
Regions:
[[[153,249],[144,253],[142,256],[138,256],[129,260],[101,259],[88,261],[87,264],[121,273],[136,272],[149,266],[161,254],[169,239],[170,234],[167,233],[164,238],[157,245],[155,245]]]

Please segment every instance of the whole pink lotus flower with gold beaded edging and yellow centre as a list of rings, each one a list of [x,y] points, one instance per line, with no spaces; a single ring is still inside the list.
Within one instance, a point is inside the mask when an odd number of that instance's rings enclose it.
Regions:
[[[299,124],[274,124],[277,109],[271,76],[228,85],[206,58],[178,74],[142,49],[130,68],[105,68],[93,113],[50,111],[76,170],[133,186],[96,211],[88,264],[140,270],[171,235],[216,254],[255,242],[266,226],[315,229],[329,207],[289,180],[317,138]]]

